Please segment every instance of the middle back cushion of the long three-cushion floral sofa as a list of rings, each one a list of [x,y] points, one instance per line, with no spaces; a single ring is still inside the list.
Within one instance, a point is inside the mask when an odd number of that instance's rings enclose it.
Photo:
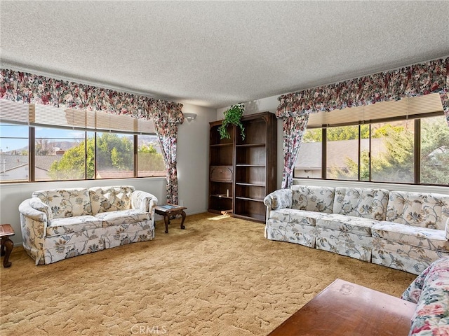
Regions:
[[[388,190],[371,188],[335,188],[333,214],[384,221]]]

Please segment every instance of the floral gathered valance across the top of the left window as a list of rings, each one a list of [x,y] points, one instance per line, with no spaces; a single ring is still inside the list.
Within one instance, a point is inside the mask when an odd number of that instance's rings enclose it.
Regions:
[[[8,69],[0,69],[0,99],[127,114],[134,118],[162,117],[169,123],[184,120],[182,104]]]

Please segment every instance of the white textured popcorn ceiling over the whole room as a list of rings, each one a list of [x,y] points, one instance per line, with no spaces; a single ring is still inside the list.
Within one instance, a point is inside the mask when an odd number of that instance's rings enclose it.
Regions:
[[[449,1],[3,1],[1,66],[220,108],[449,55]]]

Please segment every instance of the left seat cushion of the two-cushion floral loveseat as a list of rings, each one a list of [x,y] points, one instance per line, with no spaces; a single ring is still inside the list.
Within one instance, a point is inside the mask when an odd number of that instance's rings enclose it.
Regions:
[[[101,228],[101,221],[91,215],[56,218],[48,224],[46,235],[53,237],[95,228]]]

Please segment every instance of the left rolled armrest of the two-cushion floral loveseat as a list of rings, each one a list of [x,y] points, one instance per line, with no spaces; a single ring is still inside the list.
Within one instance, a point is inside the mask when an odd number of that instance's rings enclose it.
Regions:
[[[19,212],[23,248],[36,260],[36,265],[43,264],[43,245],[48,222],[53,219],[53,213],[50,207],[37,197],[20,203]]]

